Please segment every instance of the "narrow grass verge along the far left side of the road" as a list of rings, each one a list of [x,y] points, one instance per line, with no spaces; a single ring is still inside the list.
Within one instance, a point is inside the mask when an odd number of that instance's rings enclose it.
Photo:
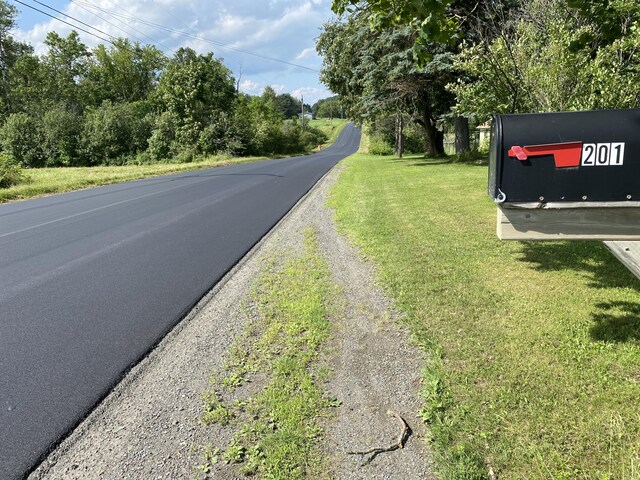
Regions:
[[[0,203],[54,193],[70,192],[111,183],[138,180],[169,173],[264,160],[264,157],[208,157],[192,163],[156,163],[110,167],[34,168],[23,170],[26,180],[9,188],[0,188]]]

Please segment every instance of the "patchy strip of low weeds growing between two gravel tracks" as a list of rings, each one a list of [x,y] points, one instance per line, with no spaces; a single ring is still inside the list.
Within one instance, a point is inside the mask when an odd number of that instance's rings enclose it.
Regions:
[[[335,288],[313,231],[305,232],[301,256],[281,266],[271,262],[257,281],[256,320],[204,397],[202,420],[231,425],[235,434],[226,447],[213,454],[207,450],[201,470],[210,471],[211,460],[221,458],[260,478],[320,475],[318,420],[332,402],[318,385],[322,373],[314,362],[329,335]],[[259,392],[246,398],[234,394],[259,377],[266,378]]]

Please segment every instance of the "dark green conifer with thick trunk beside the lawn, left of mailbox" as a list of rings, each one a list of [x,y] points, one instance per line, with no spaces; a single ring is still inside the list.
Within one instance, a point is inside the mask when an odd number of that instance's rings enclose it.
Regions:
[[[445,89],[452,59],[447,52],[438,52],[419,68],[413,61],[412,42],[407,27],[372,32],[363,12],[330,22],[317,43],[324,57],[320,78],[340,95],[350,117],[362,122],[406,112],[423,128],[428,153],[444,155],[439,120],[453,105],[453,96]]]

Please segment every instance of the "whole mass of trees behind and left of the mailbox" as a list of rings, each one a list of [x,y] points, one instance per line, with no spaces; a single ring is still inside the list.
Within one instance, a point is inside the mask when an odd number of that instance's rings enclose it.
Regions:
[[[334,0],[317,50],[347,114],[457,152],[494,113],[635,108],[637,0]]]

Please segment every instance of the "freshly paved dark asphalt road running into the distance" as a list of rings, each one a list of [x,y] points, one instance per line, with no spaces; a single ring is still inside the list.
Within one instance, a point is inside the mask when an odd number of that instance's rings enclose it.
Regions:
[[[348,125],[310,156],[1,205],[0,478],[35,468],[359,140]]]

